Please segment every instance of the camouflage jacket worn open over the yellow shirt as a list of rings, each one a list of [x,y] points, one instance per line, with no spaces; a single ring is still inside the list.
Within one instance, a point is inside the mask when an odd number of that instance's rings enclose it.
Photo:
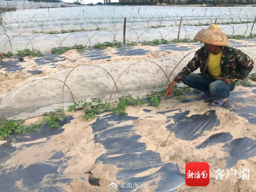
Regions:
[[[200,72],[206,77],[212,77],[207,72],[206,61],[208,58],[208,51],[202,47],[200,48],[194,58],[180,71],[174,78],[174,81],[181,82],[186,76],[200,67]],[[239,49],[229,46],[222,48],[222,56],[220,61],[221,76],[219,79],[228,78],[232,84],[238,80],[243,80],[248,76],[254,67],[254,62],[246,54]]]

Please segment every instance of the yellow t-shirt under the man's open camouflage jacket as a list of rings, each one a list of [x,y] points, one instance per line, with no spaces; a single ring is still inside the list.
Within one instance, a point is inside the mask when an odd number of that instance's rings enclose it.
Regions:
[[[218,55],[214,55],[211,52],[209,54],[209,60],[207,63],[207,71],[214,78],[218,78],[221,75],[221,72],[220,72],[221,56],[222,56],[222,52],[220,52]]]

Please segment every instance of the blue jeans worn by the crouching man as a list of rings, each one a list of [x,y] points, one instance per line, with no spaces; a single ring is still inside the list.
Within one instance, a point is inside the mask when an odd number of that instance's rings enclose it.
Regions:
[[[229,97],[229,92],[234,90],[234,85],[228,85],[226,82],[216,79],[209,78],[203,74],[189,74],[182,80],[182,82],[194,89],[211,92],[216,98],[223,99]]]

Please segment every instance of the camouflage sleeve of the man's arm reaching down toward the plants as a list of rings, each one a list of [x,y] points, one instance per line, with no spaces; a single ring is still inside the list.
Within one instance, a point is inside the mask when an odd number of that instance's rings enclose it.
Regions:
[[[200,66],[200,62],[198,59],[198,52],[196,52],[194,58],[188,64],[178,73],[178,75],[174,78],[175,82],[181,82],[186,76],[188,76],[190,73],[197,70]]]

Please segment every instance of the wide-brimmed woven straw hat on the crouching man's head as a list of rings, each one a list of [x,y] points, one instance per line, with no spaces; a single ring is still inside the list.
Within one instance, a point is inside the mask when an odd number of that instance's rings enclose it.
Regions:
[[[208,29],[200,30],[194,39],[210,45],[226,46],[228,44],[228,37],[221,32],[220,26],[215,24]]]

